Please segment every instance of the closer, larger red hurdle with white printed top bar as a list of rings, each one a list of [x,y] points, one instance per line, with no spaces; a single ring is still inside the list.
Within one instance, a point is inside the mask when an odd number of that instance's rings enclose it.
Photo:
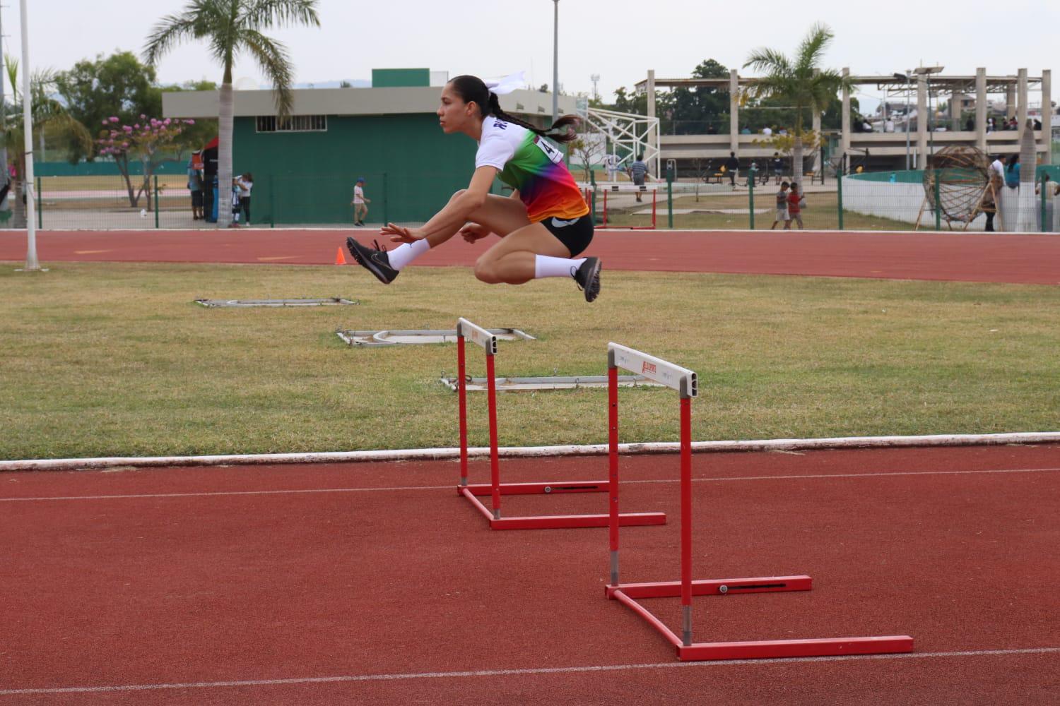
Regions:
[[[681,395],[681,580],[658,583],[618,581],[618,368],[638,373],[676,390]],[[767,576],[742,579],[692,580],[692,398],[697,394],[695,373],[668,361],[619,345],[607,344],[608,460],[611,494],[611,583],[604,595],[617,600],[659,631],[682,660],[762,659],[768,657],[811,657],[850,654],[912,652],[908,635],[838,637],[825,639],[776,639],[736,642],[692,641],[692,596],[724,596],[740,593],[809,591],[809,576]],[[647,608],[640,598],[681,597],[683,634],[677,637]]]

